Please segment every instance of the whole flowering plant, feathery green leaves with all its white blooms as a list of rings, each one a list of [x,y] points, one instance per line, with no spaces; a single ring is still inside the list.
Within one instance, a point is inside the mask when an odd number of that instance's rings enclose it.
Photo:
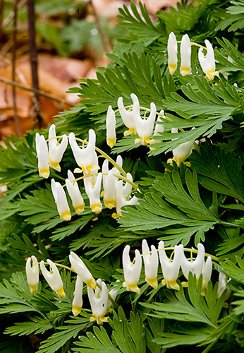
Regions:
[[[1,352],[243,351],[243,9],[124,5],[78,107],[0,146]]]

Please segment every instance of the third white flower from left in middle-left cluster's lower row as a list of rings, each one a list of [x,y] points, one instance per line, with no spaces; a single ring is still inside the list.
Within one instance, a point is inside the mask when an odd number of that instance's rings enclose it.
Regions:
[[[95,181],[94,181],[95,180]],[[99,173],[97,177],[88,177],[84,179],[85,192],[90,201],[90,208],[94,213],[100,213],[102,211],[102,203],[100,201],[100,193],[102,186],[102,173]]]

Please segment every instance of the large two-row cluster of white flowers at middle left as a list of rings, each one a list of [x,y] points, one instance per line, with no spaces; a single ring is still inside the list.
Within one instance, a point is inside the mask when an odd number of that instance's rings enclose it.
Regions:
[[[118,156],[117,161],[114,162],[116,167],[111,169],[109,169],[109,161],[105,159],[102,165],[102,173],[97,173],[100,167],[98,165],[94,130],[89,131],[89,140],[86,147],[83,141],[83,145],[80,148],[74,133],[70,133],[68,137],[63,135],[61,138],[62,141],[59,145],[56,138],[55,125],[51,125],[49,128],[49,148],[47,148],[47,141],[44,136],[39,136],[39,133],[36,134],[39,175],[45,178],[49,177],[49,167],[60,172],[59,163],[69,140],[75,161],[79,166],[73,172],[83,173],[83,177],[75,179],[71,170],[68,170],[68,178],[66,179],[65,186],[76,214],[79,215],[85,208],[83,196],[77,183],[79,179],[84,181],[85,193],[89,198],[90,208],[96,214],[102,210],[100,201],[102,186],[104,189],[102,191],[104,205],[106,208],[116,208],[116,213],[113,213],[113,217],[121,215],[121,208],[124,205],[135,205],[135,203],[138,203],[138,198],[131,196],[132,186],[137,187],[133,183],[133,177],[130,173],[126,174],[125,172],[123,172],[123,176],[121,175],[123,171],[121,156]],[[71,220],[71,210],[63,186],[58,181],[51,179],[51,191],[61,219],[65,221]]]

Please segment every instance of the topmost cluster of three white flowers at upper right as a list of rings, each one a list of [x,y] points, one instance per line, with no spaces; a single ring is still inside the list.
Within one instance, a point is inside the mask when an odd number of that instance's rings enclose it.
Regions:
[[[171,32],[169,35],[168,40],[168,66],[169,66],[169,73],[173,75],[177,68],[177,52],[178,52],[178,45],[177,45],[176,35]],[[212,81],[214,80],[214,76],[219,76],[218,71],[215,71],[215,59],[214,59],[214,49],[212,44],[209,40],[205,40],[205,47],[200,46],[200,44],[196,44],[190,42],[190,38],[188,35],[183,35],[181,38],[181,68],[180,72],[182,76],[188,76],[191,73],[191,66],[190,66],[190,58],[191,58],[191,46],[197,45],[200,47],[198,52],[198,60],[200,62],[200,66],[202,71],[205,73],[207,80]],[[203,50],[207,50],[207,54],[203,54]]]

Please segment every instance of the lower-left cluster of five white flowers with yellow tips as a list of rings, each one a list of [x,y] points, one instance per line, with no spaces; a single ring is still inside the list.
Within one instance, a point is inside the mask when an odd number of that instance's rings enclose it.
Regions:
[[[71,251],[69,255],[69,260],[72,267],[67,269],[73,270],[77,274],[72,302],[73,315],[77,316],[83,307],[83,282],[85,282],[87,285],[88,299],[92,309],[90,321],[96,320],[97,323],[101,325],[104,321],[107,321],[105,315],[111,310],[110,308],[113,304],[112,301],[114,302],[116,299],[118,289],[114,288],[109,291],[105,282],[102,282],[101,279],[95,281],[92,274],[85,266],[85,263],[76,253],[73,253],[73,251]],[[63,290],[63,282],[58,268],[55,263],[49,259],[47,260],[47,264],[50,266],[50,271],[47,270],[44,261],[41,261],[40,263],[42,275],[58,297],[65,298],[66,294]],[[30,292],[34,294],[37,291],[37,285],[39,282],[39,264],[35,256],[28,258],[25,270],[28,284],[30,285]]]

